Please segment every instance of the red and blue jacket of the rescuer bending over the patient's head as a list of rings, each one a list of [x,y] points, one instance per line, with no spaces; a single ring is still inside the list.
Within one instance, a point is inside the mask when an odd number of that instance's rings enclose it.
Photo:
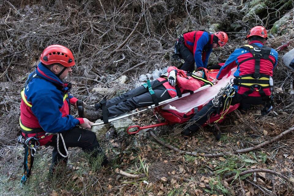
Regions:
[[[206,68],[209,55],[212,51],[213,34],[205,31],[192,31],[184,33],[183,37],[185,46],[194,54],[197,68]],[[208,43],[209,40],[210,42]]]

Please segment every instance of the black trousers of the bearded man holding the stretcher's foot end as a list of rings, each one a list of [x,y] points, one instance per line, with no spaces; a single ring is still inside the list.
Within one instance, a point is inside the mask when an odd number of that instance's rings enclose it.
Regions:
[[[69,147],[80,147],[82,148],[84,152],[92,153],[92,157],[103,155],[104,161],[107,161],[107,158],[103,150],[101,149],[94,132],[75,127],[69,131],[63,132],[62,136],[63,136],[67,149]],[[68,157],[64,158],[58,153],[56,135],[52,137],[52,142],[46,145],[53,146],[54,148],[52,152],[52,166],[57,165],[60,161],[67,162]],[[63,155],[66,155],[66,152],[60,137],[59,137],[59,150]]]

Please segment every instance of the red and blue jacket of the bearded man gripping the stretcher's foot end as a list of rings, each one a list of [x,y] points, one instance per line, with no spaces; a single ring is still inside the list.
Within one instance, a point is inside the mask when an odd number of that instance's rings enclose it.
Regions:
[[[41,62],[29,77],[32,74],[37,77],[33,77],[21,91],[22,130],[29,133],[42,128],[47,133],[58,133],[84,123],[82,118],[70,115],[70,104],[75,104],[77,98],[68,93],[67,83],[64,84]]]

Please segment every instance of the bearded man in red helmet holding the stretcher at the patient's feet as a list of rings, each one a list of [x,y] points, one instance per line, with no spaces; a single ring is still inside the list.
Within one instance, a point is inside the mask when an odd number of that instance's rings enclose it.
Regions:
[[[108,162],[95,133],[86,130],[93,123],[70,115],[70,104],[76,105],[77,98],[70,95],[71,83],[66,78],[74,65],[74,56],[68,48],[48,46],[21,91],[22,136],[25,140],[30,138],[28,144],[54,147],[51,172],[60,162],[66,165],[69,147],[80,147],[92,156],[102,156],[102,165]]]

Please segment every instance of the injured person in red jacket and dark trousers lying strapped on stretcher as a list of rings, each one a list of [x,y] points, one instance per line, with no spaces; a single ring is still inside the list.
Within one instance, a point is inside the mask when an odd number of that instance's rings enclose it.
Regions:
[[[90,121],[103,119],[104,123],[108,118],[125,114],[136,108],[158,105],[159,102],[168,100],[180,93],[195,91],[203,85],[213,85],[209,78],[209,70],[198,68],[193,73],[187,73],[170,66],[165,74],[155,81],[147,81],[133,90],[130,90],[110,100],[102,100],[95,106],[89,106],[83,101],[77,101],[77,108],[80,117]]]

